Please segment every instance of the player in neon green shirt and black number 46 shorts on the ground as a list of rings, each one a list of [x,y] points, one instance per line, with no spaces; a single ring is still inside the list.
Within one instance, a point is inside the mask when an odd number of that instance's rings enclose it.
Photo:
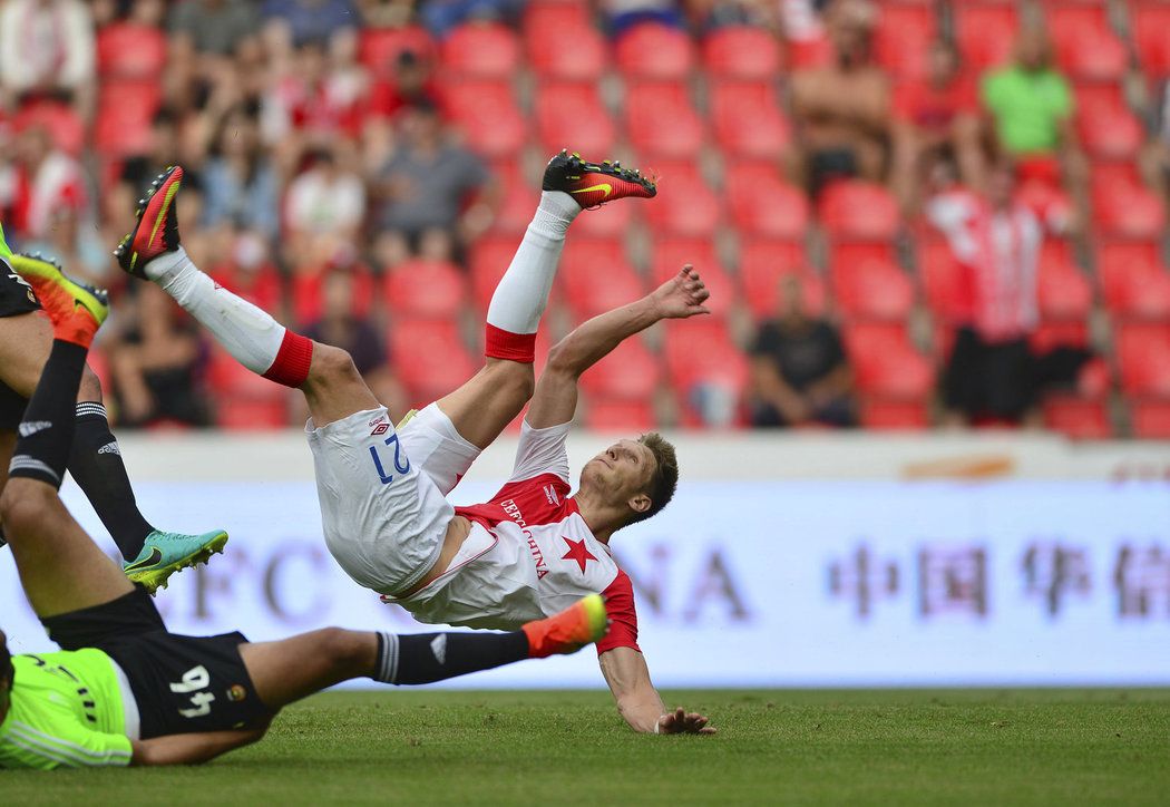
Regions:
[[[0,496],[0,519],[33,609],[57,653],[12,656],[0,632],[0,768],[202,763],[255,743],[277,711],[369,677],[422,684],[574,653],[606,630],[597,594],[504,634],[394,635],[325,628],[276,642],[179,636],[57,497],[74,400],[104,292],[14,256],[53,318],[54,342]]]

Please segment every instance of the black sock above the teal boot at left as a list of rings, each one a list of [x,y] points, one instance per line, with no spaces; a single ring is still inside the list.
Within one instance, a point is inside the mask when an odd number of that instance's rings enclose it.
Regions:
[[[105,407],[96,401],[77,405],[76,433],[69,455],[69,473],[94,505],[122,557],[133,560],[154,527],[135,501],[135,491],[122,462],[122,449],[110,432]]]

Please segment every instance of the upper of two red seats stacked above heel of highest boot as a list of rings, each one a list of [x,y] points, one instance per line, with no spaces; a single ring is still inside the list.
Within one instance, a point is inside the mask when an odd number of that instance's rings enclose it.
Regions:
[[[552,9],[550,14],[543,9]],[[530,6],[524,21],[529,63],[539,76],[596,82],[610,62],[610,46],[579,4]],[[557,18],[560,18],[559,20]],[[571,44],[566,47],[566,41]]]

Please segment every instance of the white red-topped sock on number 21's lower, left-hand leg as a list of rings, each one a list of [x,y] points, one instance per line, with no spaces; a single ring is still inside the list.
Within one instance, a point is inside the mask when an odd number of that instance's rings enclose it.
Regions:
[[[183,247],[154,258],[144,270],[245,367],[287,386],[304,382],[312,343],[216,284]]]

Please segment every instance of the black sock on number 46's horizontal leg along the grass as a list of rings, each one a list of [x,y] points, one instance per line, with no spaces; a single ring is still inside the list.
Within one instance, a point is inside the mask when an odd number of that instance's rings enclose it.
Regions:
[[[378,634],[374,681],[428,684],[528,658],[528,636],[512,633]]]

